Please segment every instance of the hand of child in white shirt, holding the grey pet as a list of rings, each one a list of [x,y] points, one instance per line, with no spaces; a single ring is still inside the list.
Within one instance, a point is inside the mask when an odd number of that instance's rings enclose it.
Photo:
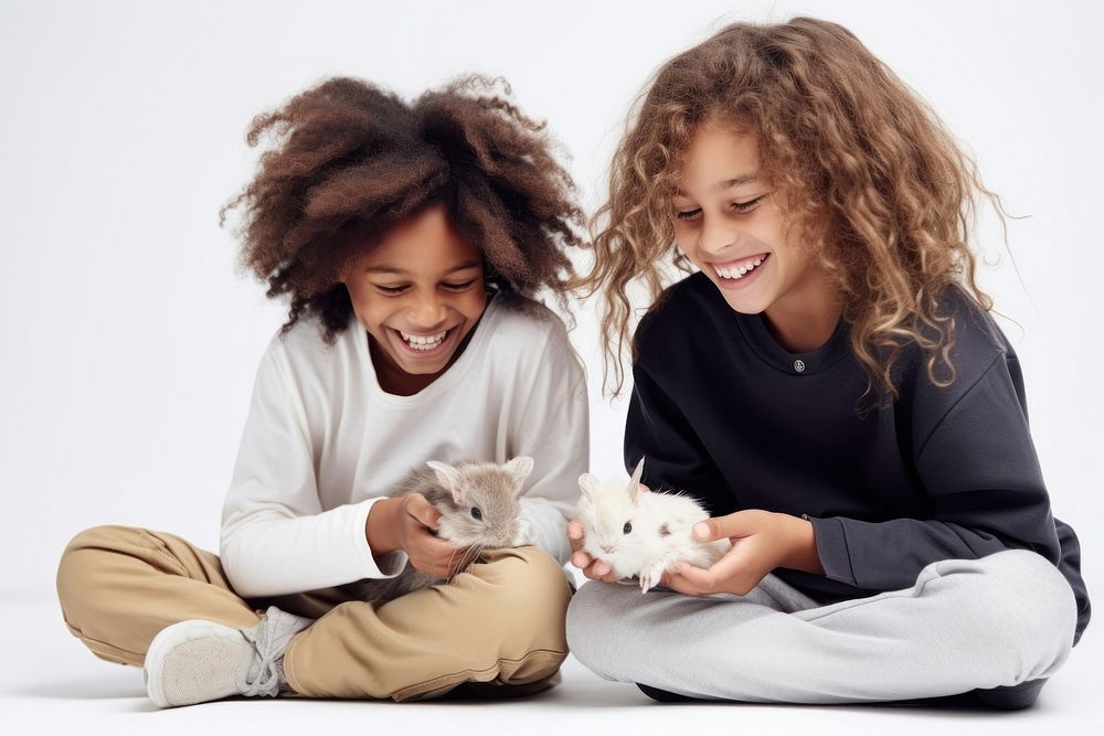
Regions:
[[[375,555],[402,550],[416,569],[449,578],[469,561],[467,550],[434,536],[438,519],[440,513],[421,493],[379,501],[368,516],[369,546]]]

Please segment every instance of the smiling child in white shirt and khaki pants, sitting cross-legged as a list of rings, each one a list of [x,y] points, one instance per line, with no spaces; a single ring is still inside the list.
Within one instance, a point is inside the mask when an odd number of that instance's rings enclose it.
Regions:
[[[333,78],[253,121],[251,146],[275,142],[223,214],[243,214],[242,260],[290,313],[257,371],[221,555],[100,526],[57,573],[70,630],[144,665],[159,706],[556,681],[587,402],[563,322],[531,297],[564,303],[582,216],[509,94],[469,77],[406,103]],[[427,460],[517,456],[535,461],[531,544],[463,570],[424,497],[384,495]],[[355,599],[407,561],[452,579]]]

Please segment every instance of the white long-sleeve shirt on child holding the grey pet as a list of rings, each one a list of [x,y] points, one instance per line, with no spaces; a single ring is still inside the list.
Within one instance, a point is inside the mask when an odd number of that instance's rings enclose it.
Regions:
[[[243,597],[390,577],[372,504],[426,460],[534,460],[522,498],[533,542],[565,563],[564,525],[588,448],[586,384],[563,323],[489,300],[464,353],[413,396],[385,393],[355,317],[332,348],[317,318],[278,333],[257,370],[222,516],[221,556]]]

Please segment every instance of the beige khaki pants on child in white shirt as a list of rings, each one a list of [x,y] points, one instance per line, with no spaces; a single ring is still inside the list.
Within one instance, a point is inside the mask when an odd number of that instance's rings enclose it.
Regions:
[[[563,569],[537,547],[487,551],[448,585],[385,604],[347,586],[245,600],[217,555],[172,534],[97,526],[62,555],[65,623],[97,657],[141,665],[167,626],[205,619],[252,627],[269,605],[317,619],[288,644],[288,684],[311,697],[432,697],[458,685],[480,694],[553,683],[567,655]],[[479,685],[478,683],[486,683]]]

